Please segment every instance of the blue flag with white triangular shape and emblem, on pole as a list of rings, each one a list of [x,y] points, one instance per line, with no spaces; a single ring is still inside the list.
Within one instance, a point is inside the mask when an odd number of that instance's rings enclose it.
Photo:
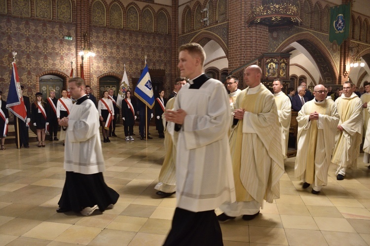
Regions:
[[[148,65],[145,64],[144,70],[135,88],[135,95],[144,102],[150,109],[154,106],[154,92],[151,86]]]

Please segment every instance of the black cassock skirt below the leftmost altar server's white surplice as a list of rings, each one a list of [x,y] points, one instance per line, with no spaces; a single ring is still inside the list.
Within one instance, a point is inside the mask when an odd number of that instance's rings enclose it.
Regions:
[[[58,205],[74,212],[98,205],[103,212],[109,205],[115,204],[118,197],[119,194],[104,182],[103,173],[66,172],[66,182]]]

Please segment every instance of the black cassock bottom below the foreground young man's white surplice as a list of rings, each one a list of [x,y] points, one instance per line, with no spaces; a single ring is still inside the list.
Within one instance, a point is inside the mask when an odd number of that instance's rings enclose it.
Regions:
[[[191,212],[176,208],[164,246],[222,246],[222,231],[214,210]]]

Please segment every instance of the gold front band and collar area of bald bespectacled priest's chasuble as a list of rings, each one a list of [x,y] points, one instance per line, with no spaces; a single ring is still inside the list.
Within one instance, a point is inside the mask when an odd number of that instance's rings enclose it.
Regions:
[[[327,102],[323,104],[314,104],[311,112],[317,112],[326,115]],[[306,164],[306,182],[313,184],[315,181],[315,156],[316,156],[316,143],[317,143],[317,120],[311,121],[310,140],[308,142],[308,154]]]

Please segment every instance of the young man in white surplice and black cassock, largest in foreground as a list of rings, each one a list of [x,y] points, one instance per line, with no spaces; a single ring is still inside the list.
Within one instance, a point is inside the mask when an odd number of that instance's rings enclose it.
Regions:
[[[204,74],[197,43],[179,48],[180,74],[189,79],[165,113],[176,145],[177,206],[165,246],[221,246],[215,209],[235,201],[227,131],[231,113],[223,84]]]

